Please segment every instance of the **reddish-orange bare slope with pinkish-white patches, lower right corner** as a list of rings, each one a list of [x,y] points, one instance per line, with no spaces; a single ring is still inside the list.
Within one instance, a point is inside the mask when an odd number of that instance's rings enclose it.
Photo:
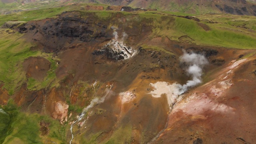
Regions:
[[[226,74],[230,70],[227,69],[226,64],[222,70],[212,75],[214,81],[189,91],[185,97],[192,98],[193,94],[204,93],[204,98],[199,100],[202,101],[206,98],[211,100],[210,103],[205,103],[207,107],[202,107],[204,104],[192,105],[190,108],[194,110],[192,113],[188,113],[184,109],[179,110],[183,101],[176,104],[174,110],[169,114],[168,127],[154,143],[184,144],[192,143],[197,138],[200,138],[203,143],[252,144],[256,142],[256,130],[253,127],[255,125],[253,119],[256,116],[254,113],[256,102],[253,101],[256,88],[254,80],[256,76],[252,73],[254,69],[252,60],[248,59],[234,68],[231,74]],[[228,77],[225,77],[226,75]],[[223,78],[231,78],[232,86],[220,89],[221,91],[213,94],[212,84],[217,84]],[[218,104],[217,108],[214,108],[211,102]]]

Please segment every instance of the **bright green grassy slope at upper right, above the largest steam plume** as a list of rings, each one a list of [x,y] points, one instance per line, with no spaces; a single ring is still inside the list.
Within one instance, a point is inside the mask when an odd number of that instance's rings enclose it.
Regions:
[[[178,40],[178,37],[186,35],[195,40],[196,44],[212,45],[229,48],[254,49],[256,37],[248,36],[236,29],[226,29],[223,27],[210,26],[211,30],[205,31],[198,26],[197,22],[186,18],[176,18],[174,30],[169,38]],[[163,31],[164,32],[164,31]]]

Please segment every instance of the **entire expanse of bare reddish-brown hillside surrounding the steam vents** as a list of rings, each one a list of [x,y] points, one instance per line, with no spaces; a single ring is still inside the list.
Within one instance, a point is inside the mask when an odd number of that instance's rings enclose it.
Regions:
[[[79,12],[66,12],[58,18],[23,25],[28,29],[24,38],[38,44],[39,50],[54,52],[54,56],[60,58],[55,71],[60,86],[28,91],[24,84],[12,96],[18,106],[24,111],[49,114],[63,122],[68,110],[66,102],[84,108],[92,98],[103,96],[106,86],[113,84],[105,101],[89,109],[84,126],[73,132],[74,141],[79,141],[81,137],[90,139],[92,134],[102,132],[96,142],[106,142],[115,130],[131,126],[130,139],[134,144],[183,144],[194,140],[203,143],[255,142],[253,72],[256,68],[253,61],[246,59],[226,78],[221,75],[232,69],[233,60],[254,50],[196,46],[160,37],[149,39],[151,27],[146,25],[146,20],[129,23],[124,15],[116,13],[113,16],[115,22],[118,23],[119,34],[123,31],[128,34],[126,44],[138,50],[138,54],[129,60],[117,61],[92,54],[109,42],[113,33],[109,22],[99,22],[95,14],[84,19]],[[145,45],[163,49],[151,50]],[[210,63],[204,68],[204,83],[184,94],[184,100],[169,113],[164,95],[154,98],[148,94],[152,90],[150,83],[165,81],[184,84],[190,79],[185,72],[186,64],[179,60],[182,49],[204,54]],[[29,58],[24,62],[27,76],[38,79],[45,76],[46,66],[48,68],[49,63],[43,58]],[[227,81],[222,82],[224,79]],[[96,80],[101,83],[98,90],[85,89],[92,88]],[[120,92],[127,91],[134,93],[136,98],[122,104]],[[196,98],[187,104],[186,100],[190,100],[191,96]],[[76,112],[73,114],[76,116]],[[67,119],[68,122],[75,116]],[[68,133],[67,139],[70,138]]]

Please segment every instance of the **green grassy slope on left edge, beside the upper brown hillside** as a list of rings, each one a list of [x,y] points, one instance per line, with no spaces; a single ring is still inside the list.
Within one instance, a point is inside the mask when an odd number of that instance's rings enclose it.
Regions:
[[[22,39],[22,36],[23,34],[18,32],[0,32],[0,80],[4,82],[4,88],[8,90],[9,95],[12,95],[26,79],[22,62],[38,54],[30,50],[33,45]]]

